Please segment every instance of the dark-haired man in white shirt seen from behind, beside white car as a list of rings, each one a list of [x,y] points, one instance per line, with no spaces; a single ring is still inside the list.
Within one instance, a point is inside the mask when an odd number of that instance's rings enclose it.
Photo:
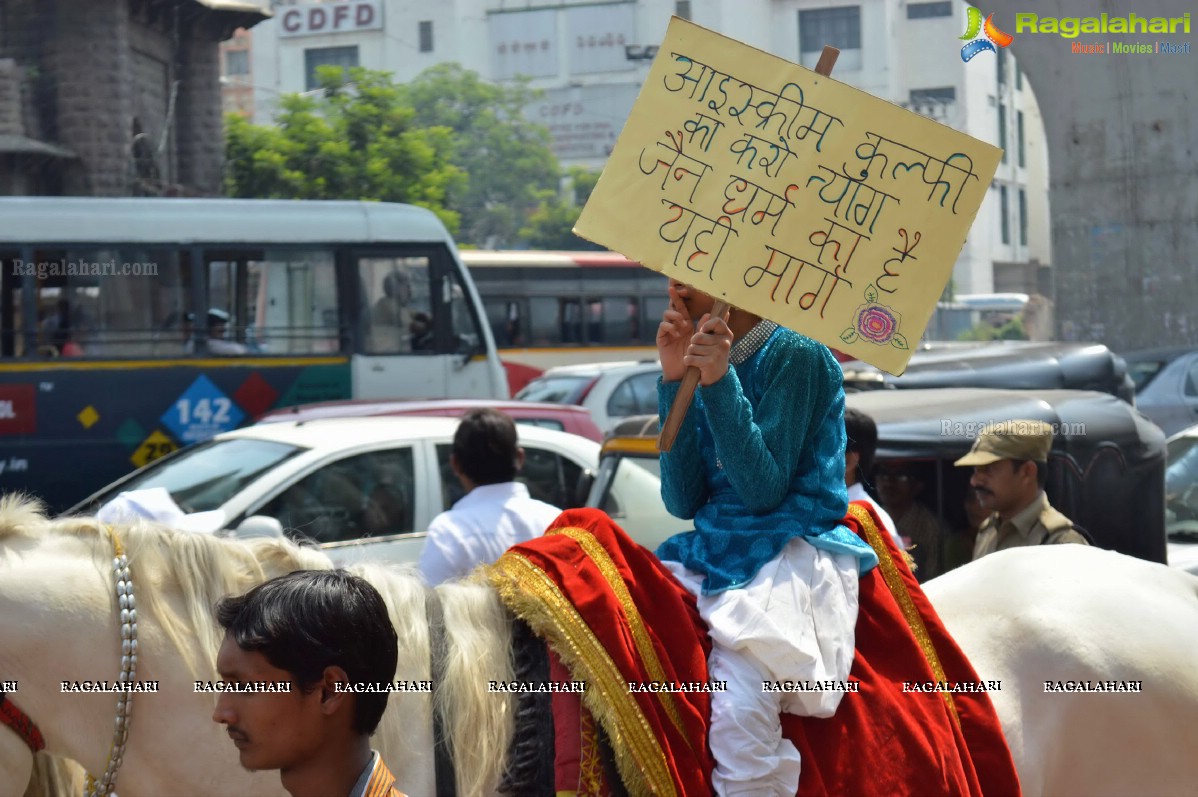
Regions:
[[[512,545],[545,532],[562,513],[515,481],[524,466],[516,424],[490,407],[462,416],[449,465],[466,495],[429,524],[420,573],[430,585],[491,563]]]

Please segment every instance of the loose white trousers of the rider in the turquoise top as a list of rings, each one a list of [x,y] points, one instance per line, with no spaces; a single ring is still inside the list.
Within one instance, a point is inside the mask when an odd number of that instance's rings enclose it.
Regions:
[[[712,775],[720,797],[793,797],[799,751],[780,712],[830,717],[845,693],[766,692],[763,681],[847,681],[858,609],[857,560],[795,537],[743,587],[704,596],[703,576],[662,562],[697,597],[712,635]]]

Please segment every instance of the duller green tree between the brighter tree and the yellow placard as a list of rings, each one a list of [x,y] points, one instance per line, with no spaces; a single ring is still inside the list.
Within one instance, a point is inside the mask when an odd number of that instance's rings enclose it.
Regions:
[[[454,133],[453,163],[467,175],[448,197],[449,207],[461,215],[459,239],[491,248],[515,244],[556,191],[559,173],[549,129],[524,117],[533,91],[440,64],[404,85],[403,93],[415,123]]]

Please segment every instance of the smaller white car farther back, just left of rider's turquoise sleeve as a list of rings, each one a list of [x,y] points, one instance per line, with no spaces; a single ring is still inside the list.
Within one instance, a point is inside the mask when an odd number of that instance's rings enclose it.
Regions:
[[[595,425],[606,434],[631,415],[657,413],[660,376],[661,363],[655,360],[556,366],[525,385],[515,398],[579,404],[591,410]]]

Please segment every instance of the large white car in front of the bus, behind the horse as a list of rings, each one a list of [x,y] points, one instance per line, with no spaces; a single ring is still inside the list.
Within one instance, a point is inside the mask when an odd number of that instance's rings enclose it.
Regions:
[[[462,495],[449,467],[458,418],[357,417],[252,425],[183,448],[114,482],[74,507],[95,513],[121,493],[161,494],[192,531],[283,530],[317,543],[338,563],[416,562],[428,525]],[[518,424],[533,497],[583,506],[599,445],[579,435]],[[660,482],[642,471],[619,483],[619,523],[655,548],[666,530],[636,508],[660,502]]]

